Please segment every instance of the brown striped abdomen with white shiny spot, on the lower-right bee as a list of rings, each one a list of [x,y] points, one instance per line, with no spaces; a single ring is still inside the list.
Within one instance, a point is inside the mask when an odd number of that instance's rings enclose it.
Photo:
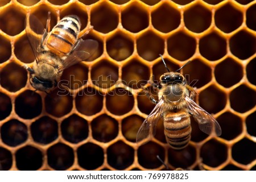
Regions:
[[[191,139],[189,114],[184,110],[176,113],[167,111],[164,114],[164,134],[172,148],[179,150],[187,146]]]

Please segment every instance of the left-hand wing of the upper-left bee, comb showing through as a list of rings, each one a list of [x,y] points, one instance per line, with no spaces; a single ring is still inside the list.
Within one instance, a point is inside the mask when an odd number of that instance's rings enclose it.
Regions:
[[[42,40],[42,36],[46,33],[46,29],[44,28],[40,20],[36,18],[36,16],[31,14],[27,14],[26,16],[25,27],[27,38],[36,57],[36,63],[38,63],[38,49]]]

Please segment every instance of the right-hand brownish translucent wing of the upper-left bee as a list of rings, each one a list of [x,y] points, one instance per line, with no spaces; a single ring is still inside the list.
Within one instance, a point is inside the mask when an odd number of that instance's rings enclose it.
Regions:
[[[98,48],[98,42],[96,40],[79,39],[78,41],[79,43],[77,43],[77,46],[75,49],[73,49],[71,55],[69,55],[67,59],[63,61],[63,66],[59,68],[59,72],[63,71],[68,67],[71,67],[76,63],[79,63],[80,61],[88,59]]]

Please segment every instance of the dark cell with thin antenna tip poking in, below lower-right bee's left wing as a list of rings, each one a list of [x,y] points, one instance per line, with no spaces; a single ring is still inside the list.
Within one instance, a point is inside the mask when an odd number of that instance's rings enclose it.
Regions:
[[[139,164],[144,168],[154,169],[162,165],[162,162],[156,157],[164,161],[164,148],[154,142],[148,142],[138,148]]]

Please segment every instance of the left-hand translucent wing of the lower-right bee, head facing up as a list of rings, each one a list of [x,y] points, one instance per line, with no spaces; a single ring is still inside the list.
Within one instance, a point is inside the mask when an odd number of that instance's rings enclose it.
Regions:
[[[164,109],[163,103],[164,103],[163,99],[160,99],[158,104],[156,104],[154,109],[151,111],[151,113],[142,123],[137,133],[137,139],[136,139],[137,143],[141,141],[143,141],[143,144],[147,143],[148,137],[149,138],[154,137],[156,133],[156,124],[158,123],[161,117],[161,114],[163,113],[163,109]]]

